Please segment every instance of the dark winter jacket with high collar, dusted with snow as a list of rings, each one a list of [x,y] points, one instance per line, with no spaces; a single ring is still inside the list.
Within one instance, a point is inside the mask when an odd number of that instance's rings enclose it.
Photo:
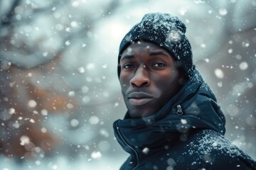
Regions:
[[[225,118],[213,92],[193,77],[160,111],[114,122],[130,157],[121,169],[256,169],[256,162],[226,140]]]

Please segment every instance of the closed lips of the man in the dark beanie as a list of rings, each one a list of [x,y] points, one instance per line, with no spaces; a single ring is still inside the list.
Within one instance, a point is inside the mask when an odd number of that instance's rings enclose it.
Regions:
[[[151,101],[152,98],[153,96],[144,92],[133,92],[132,94],[128,95],[129,103],[131,103],[133,106],[142,106]]]

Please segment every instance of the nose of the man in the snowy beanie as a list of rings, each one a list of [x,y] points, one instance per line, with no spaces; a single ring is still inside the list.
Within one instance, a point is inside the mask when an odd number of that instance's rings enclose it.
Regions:
[[[149,73],[144,66],[140,66],[136,70],[134,77],[130,80],[130,84],[137,87],[150,85]]]

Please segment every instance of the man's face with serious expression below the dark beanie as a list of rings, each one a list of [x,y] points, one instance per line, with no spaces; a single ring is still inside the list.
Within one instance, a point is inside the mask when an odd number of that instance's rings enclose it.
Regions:
[[[183,79],[169,52],[150,42],[129,45],[120,59],[124,102],[131,118],[159,111],[180,89]]]

